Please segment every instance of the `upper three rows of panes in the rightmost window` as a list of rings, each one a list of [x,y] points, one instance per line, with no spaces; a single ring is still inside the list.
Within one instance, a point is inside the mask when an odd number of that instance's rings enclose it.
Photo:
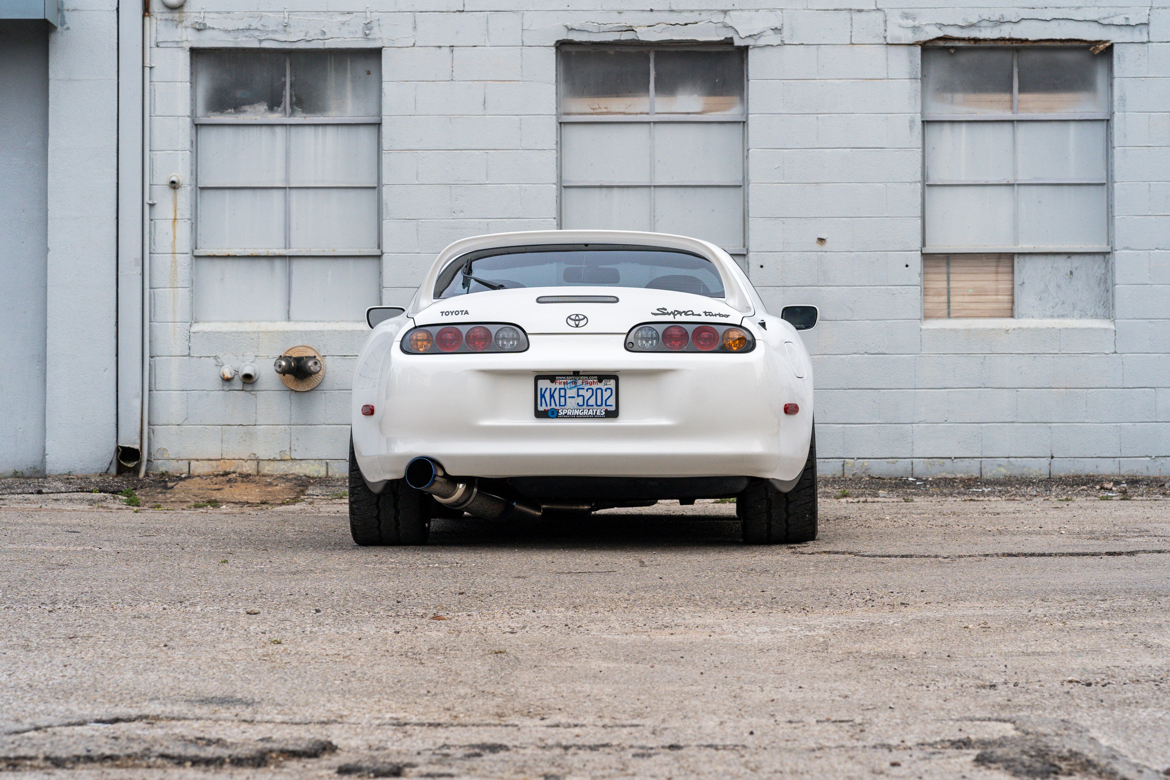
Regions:
[[[1092,229],[1066,232],[1071,220],[1058,212],[1061,202],[1089,206],[1108,195],[1107,61],[1087,47],[929,48],[923,56],[924,251],[1100,251],[1103,220],[1080,215]],[[997,126],[1011,129],[1010,140],[997,140]],[[994,205],[1003,196],[1012,200],[1007,242],[1007,209]]]

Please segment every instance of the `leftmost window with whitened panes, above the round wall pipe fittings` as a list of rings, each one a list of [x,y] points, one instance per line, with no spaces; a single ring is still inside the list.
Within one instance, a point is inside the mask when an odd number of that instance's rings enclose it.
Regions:
[[[380,62],[194,55],[195,320],[362,319],[380,302]]]

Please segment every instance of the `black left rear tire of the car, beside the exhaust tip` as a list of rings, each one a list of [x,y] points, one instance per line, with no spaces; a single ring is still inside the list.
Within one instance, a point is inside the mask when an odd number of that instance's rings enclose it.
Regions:
[[[363,547],[421,545],[431,533],[431,496],[391,479],[376,493],[366,485],[350,437],[350,534]]]

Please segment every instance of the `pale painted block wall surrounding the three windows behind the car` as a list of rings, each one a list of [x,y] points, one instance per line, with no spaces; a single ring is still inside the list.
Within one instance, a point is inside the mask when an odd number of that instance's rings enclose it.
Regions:
[[[156,11],[152,468],[340,474],[364,329],[192,325],[190,49],[383,50],[383,298],[443,246],[556,227],[556,44],[749,48],[749,267],[770,309],[820,306],[823,474],[1170,472],[1170,8],[874,0],[731,4],[188,0]],[[724,4],[727,5],[727,4]],[[814,5],[815,7],[807,7]],[[1113,41],[1110,319],[923,322],[918,43]],[[823,239],[824,241],[818,241]],[[321,388],[271,360],[309,344]],[[261,380],[219,367],[254,360]]]

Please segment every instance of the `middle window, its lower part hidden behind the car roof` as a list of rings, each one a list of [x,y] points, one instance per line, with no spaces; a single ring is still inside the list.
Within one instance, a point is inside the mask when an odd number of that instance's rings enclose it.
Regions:
[[[560,51],[560,225],[704,239],[742,255],[743,53]]]

